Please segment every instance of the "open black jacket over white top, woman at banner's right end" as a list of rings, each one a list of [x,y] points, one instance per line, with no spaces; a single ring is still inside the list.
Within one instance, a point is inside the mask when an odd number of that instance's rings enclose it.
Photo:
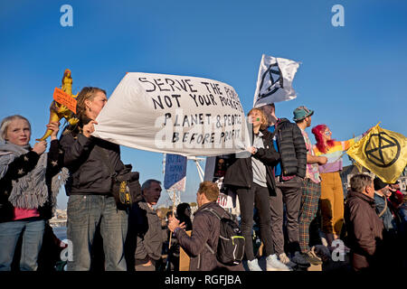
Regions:
[[[271,134],[268,130],[261,131],[263,134],[264,148],[259,148],[257,153],[245,158],[237,158],[232,154],[231,164],[226,170],[223,179],[223,185],[230,187],[251,188],[253,182],[253,169],[251,166],[251,157],[255,157],[264,163],[267,171],[267,187],[270,195],[275,195],[274,166],[279,163],[279,153],[273,146]],[[249,154],[249,153],[248,153]]]

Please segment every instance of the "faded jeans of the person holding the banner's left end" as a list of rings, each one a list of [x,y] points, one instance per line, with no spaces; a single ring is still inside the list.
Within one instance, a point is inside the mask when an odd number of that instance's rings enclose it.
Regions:
[[[90,250],[100,224],[107,271],[126,271],[124,244],[128,214],[118,210],[113,197],[71,195],[68,200],[67,237],[71,241],[68,271],[89,271]]]

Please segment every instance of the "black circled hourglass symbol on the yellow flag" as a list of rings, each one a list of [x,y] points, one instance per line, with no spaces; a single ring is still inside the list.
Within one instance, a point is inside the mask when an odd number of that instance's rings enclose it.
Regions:
[[[400,156],[401,148],[399,142],[386,133],[370,135],[364,146],[364,154],[369,162],[374,165],[386,168],[395,163]]]

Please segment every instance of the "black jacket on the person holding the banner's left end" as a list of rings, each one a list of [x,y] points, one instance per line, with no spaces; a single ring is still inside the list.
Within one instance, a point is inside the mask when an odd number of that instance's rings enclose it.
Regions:
[[[65,151],[64,166],[71,176],[65,191],[67,195],[111,194],[111,173],[109,167],[102,161],[102,155],[95,146],[103,149],[108,155],[107,160],[117,174],[124,172],[125,166],[120,161],[120,147],[100,138],[70,132],[62,134],[60,143]]]

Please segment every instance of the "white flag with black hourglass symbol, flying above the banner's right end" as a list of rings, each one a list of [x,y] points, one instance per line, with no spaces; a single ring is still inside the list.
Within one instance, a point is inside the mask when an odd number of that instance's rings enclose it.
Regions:
[[[263,54],[253,107],[297,98],[296,92],[292,88],[292,80],[296,75],[298,66],[299,62]]]

